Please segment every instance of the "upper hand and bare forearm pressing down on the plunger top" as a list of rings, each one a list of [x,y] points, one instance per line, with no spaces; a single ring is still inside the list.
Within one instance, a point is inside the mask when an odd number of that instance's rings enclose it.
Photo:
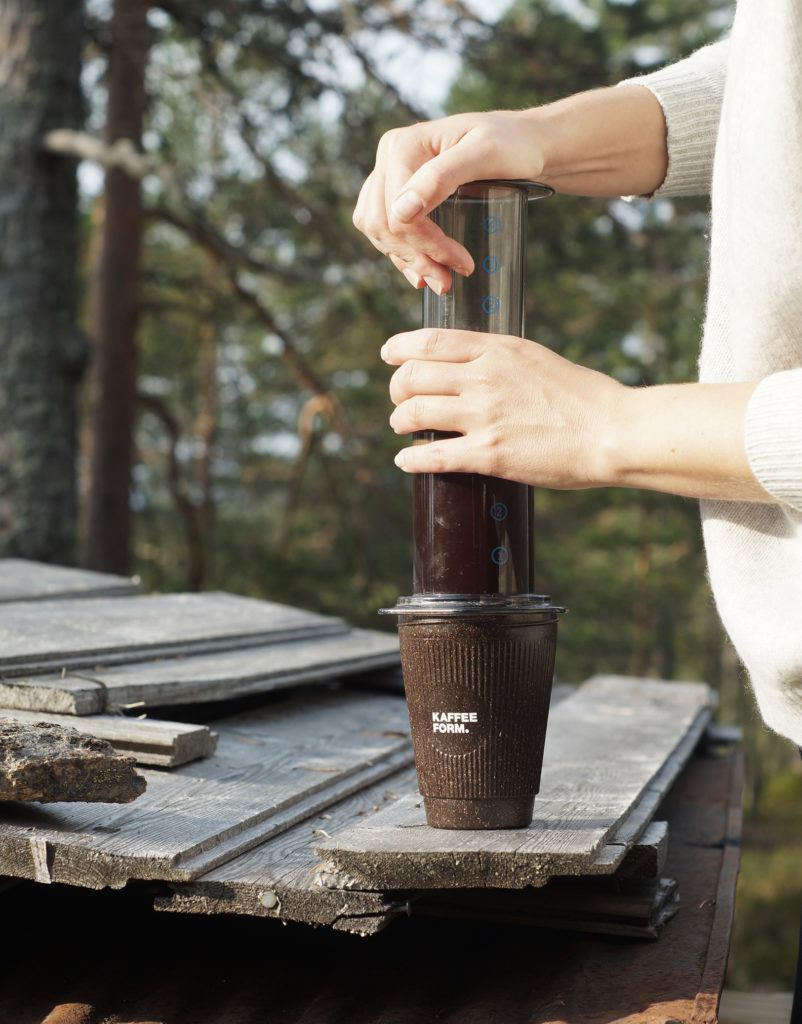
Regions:
[[[652,191],[666,174],[666,122],[641,85],[595,89],[529,111],[458,114],[387,132],[353,223],[416,288],[442,294],[470,254],[428,218],[466,181],[524,178],[575,196]]]

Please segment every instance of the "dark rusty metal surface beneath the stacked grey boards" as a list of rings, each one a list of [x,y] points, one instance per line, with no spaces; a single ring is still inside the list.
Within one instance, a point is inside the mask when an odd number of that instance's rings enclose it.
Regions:
[[[361,939],[157,914],[154,886],[0,895],[14,1024],[715,1024],[743,760],[697,755],[666,798],[681,909],[656,942],[410,920]],[[66,1005],[72,1004],[72,1008]],[[60,1007],[61,1009],[56,1009]]]

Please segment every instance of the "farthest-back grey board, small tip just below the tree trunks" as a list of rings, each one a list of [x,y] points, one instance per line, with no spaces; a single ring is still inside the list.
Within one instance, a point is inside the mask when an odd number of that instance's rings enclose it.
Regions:
[[[0,558],[0,603],[135,594],[138,580],[24,558]]]

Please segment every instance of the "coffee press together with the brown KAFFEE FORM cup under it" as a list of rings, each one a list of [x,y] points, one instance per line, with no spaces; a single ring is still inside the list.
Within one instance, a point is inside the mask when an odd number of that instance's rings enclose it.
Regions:
[[[551,194],[532,182],[475,181],[432,212],[475,269],[453,273],[444,295],[425,290],[424,327],[524,336],[526,207]],[[414,439],[448,436],[421,431]],[[532,488],[477,474],[415,474],[413,497],[414,593],[382,611],[398,616],[426,820],[435,828],[525,827],[564,610],[532,593]]]

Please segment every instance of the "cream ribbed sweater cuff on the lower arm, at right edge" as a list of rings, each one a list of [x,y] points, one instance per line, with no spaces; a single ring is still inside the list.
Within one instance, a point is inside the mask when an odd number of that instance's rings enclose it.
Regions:
[[[745,433],[760,485],[802,512],[802,368],[763,378],[750,398]]]

